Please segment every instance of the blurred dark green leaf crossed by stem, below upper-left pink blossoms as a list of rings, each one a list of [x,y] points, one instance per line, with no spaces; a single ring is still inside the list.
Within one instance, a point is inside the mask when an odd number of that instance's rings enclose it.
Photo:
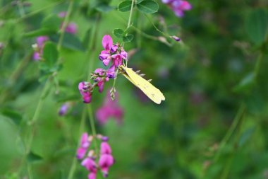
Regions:
[[[51,40],[54,42],[58,42],[59,41],[59,35],[53,35],[51,36]],[[82,42],[80,41],[80,39],[71,34],[71,33],[64,33],[63,36],[63,41],[62,41],[62,46],[66,47],[70,50],[79,50],[84,52],[85,51],[85,47],[83,46]]]

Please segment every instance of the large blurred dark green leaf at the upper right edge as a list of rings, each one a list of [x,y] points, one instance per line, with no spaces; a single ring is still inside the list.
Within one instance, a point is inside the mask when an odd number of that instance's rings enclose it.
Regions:
[[[268,32],[268,13],[264,9],[252,11],[245,21],[245,30],[250,40],[257,45],[264,42]]]

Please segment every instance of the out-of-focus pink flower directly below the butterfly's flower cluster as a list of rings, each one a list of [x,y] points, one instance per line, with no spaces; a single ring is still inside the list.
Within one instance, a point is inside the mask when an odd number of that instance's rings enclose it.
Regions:
[[[117,93],[115,98],[118,98]],[[123,109],[118,105],[118,100],[111,100],[109,93],[107,93],[104,105],[97,110],[96,117],[102,125],[104,125],[110,117],[114,117],[116,122],[120,124],[123,120]]]

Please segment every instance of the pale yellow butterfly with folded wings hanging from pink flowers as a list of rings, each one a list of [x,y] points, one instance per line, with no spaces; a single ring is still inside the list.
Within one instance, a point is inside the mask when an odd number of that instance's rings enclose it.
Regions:
[[[143,79],[140,75],[136,74],[132,69],[121,65],[119,70],[131,83],[140,88],[140,90],[145,93],[148,98],[150,98],[154,103],[160,104],[165,97],[159,89],[154,87],[149,81]]]

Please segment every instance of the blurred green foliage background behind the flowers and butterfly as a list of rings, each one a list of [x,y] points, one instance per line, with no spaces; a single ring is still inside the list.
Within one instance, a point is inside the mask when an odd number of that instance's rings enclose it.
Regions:
[[[97,0],[75,1],[70,21],[78,25],[78,33],[63,39],[62,67],[49,82],[32,130],[28,122],[49,80],[32,60],[35,30],[45,19],[67,11],[69,1],[0,1],[0,178],[28,175],[22,157],[31,131],[27,161],[32,178],[67,178],[85,108],[78,83],[87,80],[89,69],[103,67],[98,59],[103,35],[121,42],[112,31],[126,28],[129,12],[114,10],[119,2],[102,1],[109,6],[99,8]],[[97,133],[110,138],[116,159],[109,178],[268,178],[268,2],[189,0],[193,9],[183,18],[157,2],[159,11],[152,15],[135,9],[135,28],[130,28],[134,39],[124,48],[135,50],[128,67],[153,79],[166,100],[156,105],[118,76],[123,123],[112,118],[105,125],[96,122]],[[163,35],[148,19],[181,42],[166,38],[169,47],[153,40]],[[55,35],[50,34],[54,42]],[[88,44],[95,49],[87,50]],[[94,62],[88,68],[90,60]],[[93,93],[93,112],[112,83],[105,84],[103,93]],[[72,107],[61,117],[59,108],[66,101]],[[90,133],[88,117],[85,131]],[[74,178],[87,178],[79,163]]]

